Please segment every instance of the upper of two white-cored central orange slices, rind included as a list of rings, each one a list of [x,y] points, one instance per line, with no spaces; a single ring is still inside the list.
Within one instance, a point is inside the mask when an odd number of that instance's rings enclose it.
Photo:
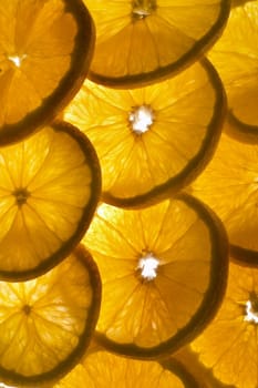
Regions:
[[[134,90],[87,80],[64,119],[97,152],[103,201],[136,207],[178,192],[203,170],[220,136],[225,105],[220,80],[203,60],[173,79]]]

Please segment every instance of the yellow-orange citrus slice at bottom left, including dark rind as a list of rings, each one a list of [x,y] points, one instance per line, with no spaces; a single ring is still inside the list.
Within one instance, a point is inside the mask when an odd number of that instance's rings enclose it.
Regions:
[[[101,280],[90,254],[79,246],[47,274],[0,282],[0,290],[1,380],[38,387],[72,369],[100,310]]]

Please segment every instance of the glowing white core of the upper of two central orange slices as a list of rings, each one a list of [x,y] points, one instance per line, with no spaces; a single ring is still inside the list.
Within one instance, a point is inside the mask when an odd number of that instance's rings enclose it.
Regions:
[[[142,105],[128,114],[132,131],[142,134],[149,130],[153,124],[153,110],[151,106]]]

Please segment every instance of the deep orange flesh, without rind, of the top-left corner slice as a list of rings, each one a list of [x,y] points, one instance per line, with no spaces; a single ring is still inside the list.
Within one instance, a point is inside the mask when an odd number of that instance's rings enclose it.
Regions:
[[[78,27],[64,7],[63,0],[0,2],[0,127],[43,104],[68,72]]]

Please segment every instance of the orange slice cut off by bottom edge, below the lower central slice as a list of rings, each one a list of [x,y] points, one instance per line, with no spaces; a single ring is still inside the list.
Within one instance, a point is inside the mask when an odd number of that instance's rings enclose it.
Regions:
[[[105,350],[90,354],[54,388],[198,388],[179,363],[143,361],[113,355]]]

